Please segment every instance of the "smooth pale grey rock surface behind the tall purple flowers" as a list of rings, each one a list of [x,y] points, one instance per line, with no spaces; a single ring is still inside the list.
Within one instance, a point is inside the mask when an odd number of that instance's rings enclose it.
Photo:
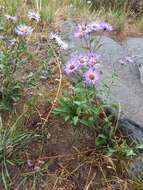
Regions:
[[[62,39],[69,44],[68,51],[63,53],[64,60],[81,48],[79,40],[74,37],[75,28],[76,23],[73,21],[66,21],[61,27]],[[138,140],[141,140],[143,139],[143,38],[128,38],[119,43],[103,36],[101,44],[98,54],[102,57],[102,80],[110,83],[112,73],[118,75],[107,100],[120,104],[121,116],[125,119],[124,124],[131,129],[135,137],[139,136]],[[120,61],[134,56],[139,58],[133,63],[122,64]],[[127,122],[126,119],[133,122]],[[133,127],[135,123],[138,127]],[[139,132],[138,128],[141,128]]]

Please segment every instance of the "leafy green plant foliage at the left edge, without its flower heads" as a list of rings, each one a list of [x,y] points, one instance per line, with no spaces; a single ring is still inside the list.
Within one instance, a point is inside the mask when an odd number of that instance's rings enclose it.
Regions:
[[[12,111],[23,96],[24,83],[16,79],[24,63],[25,44],[21,41],[9,41],[8,46],[0,52],[0,111]]]

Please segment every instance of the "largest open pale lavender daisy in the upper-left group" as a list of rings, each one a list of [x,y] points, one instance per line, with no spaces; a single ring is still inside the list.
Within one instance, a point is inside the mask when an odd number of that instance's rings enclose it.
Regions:
[[[19,36],[29,36],[33,32],[33,28],[31,26],[27,26],[26,24],[20,24],[15,28],[15,32]]]

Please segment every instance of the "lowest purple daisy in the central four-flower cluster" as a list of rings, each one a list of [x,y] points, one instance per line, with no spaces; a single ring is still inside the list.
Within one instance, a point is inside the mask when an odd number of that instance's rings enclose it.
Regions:
[[[95,69],[89,69],[84,73],[85,83],[88,85],[96,85],[97,81],[100,79],[100,74]]]

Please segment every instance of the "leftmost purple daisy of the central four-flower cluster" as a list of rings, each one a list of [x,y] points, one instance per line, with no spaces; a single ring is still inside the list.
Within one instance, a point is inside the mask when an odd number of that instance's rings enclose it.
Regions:
[[[71,58],[65,65],[64,71],[67,75],[74,74],[79,69],[79,64],[75,58]]]

